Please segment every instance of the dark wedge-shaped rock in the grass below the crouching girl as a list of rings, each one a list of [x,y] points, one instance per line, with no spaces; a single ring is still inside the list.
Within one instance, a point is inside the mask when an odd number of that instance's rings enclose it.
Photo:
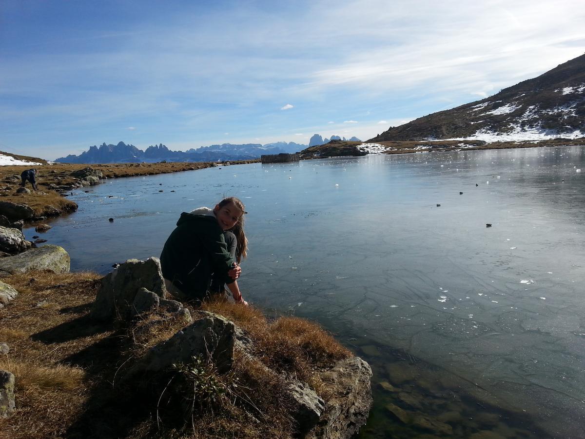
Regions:
[[[161,372],[176,363],[189,363],[192,357],[199,355],[211,358],[219,372],[227,372],[233,363],[234,328],[235,325],[221,315],[206,313],[173,337],[151,348],[123,380]]]

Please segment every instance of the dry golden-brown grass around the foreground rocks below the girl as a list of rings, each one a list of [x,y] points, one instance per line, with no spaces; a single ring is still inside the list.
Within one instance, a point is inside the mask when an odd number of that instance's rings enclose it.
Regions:
[[[253,340],[255,359],[236,349],[228,373],[194,362],[147,383],[147,391],[122,384],[125,366],[188,323],[164,311],[143,314],[133,325],[90,320],[100,278],[31,272],[2,279],[19,296],[0,309],[0,339],[11,348],[0,356],[0,369],[16,376],[17,405],[11,418],[0,419],[0,438],[291,438],[286,384],[266,366],[305,380],[326,401],[321,368],[351,355],[307,320],[268,320],[253,307],[220,300],[202,310],[239,325]],[[197,318],[200,311],[189,308]],[[190,385],[175,385],[185,380]],[[185,413],[185,398],[205,403]]]

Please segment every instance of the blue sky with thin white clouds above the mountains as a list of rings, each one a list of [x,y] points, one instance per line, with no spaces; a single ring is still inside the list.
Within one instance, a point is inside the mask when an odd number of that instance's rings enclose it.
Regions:
[[[585,52],[582,0],[0,2],[0,150],[371,138]]]

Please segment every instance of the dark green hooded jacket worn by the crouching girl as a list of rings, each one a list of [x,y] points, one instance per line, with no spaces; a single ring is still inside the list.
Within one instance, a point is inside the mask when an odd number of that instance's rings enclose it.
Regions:
[[[181,214],[160,255],[164,278],[185,296],[199,300],[212,276],[222,284],[233,282],[228,271],[234,262],[215,216],[187,212]]]

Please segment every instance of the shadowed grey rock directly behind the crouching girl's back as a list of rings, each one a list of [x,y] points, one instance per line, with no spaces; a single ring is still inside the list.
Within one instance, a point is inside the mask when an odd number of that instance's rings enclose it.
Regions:
[[[163,299],[166,297],[167,289],[158,258],[128,259],[105,276],[91,307],[91,317],[97,320],[131,317],[132,304],[141,288]]]

